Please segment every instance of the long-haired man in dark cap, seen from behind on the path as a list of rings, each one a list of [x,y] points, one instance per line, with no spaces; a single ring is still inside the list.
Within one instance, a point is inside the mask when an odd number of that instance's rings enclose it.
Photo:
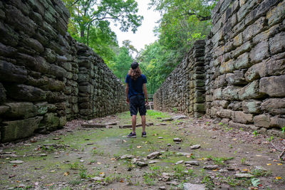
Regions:
[[[145,105],[148,105],[147,78],[145,75],[142,75],[138,62],[133,62],[130,65],[130,70],[125,78],[125,83],[126,101],[130,104],[130,115],[132,116],[133,127],[133,132],[130,132],[128,137],[137,137],[135,126],[137,124],[138,111],[140,112],[140,117],[142,117],[142,137],[147,137],[147,133],[145,132],[145,114],[147,112]]]

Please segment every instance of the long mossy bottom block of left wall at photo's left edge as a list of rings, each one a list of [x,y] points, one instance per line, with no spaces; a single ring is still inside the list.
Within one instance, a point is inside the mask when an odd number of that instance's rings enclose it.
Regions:
[[[33,135],[43,117],[32,117],[26,120],[3,122],[1,129],[1,142],[11,142]]]

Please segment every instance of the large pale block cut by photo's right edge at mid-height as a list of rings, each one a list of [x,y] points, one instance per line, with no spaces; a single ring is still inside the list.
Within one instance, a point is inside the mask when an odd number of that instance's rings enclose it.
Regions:
[[[285,75],[261,78],[260,93],[266,93],[271,97],[285,97]]]

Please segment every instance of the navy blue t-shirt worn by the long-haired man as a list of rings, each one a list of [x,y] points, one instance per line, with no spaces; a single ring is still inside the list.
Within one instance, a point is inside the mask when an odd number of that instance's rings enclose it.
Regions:
[[[147,78],[145,75],[140,75],[137,80],[133,80],[130,78],[130,75],[127,74],[125,78],[125,83],[129,84],[129,93],[128,96],[131,97],[132,95],[143,94],[142,86],[144,83],[147,83]]]

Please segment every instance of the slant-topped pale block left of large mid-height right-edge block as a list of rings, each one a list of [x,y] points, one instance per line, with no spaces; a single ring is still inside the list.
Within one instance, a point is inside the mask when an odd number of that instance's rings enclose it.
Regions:
[[[259,80],[254,80],[239,90],[239,100],[256,99],[259,97],[264,97],[264,93],[259,92]]]

